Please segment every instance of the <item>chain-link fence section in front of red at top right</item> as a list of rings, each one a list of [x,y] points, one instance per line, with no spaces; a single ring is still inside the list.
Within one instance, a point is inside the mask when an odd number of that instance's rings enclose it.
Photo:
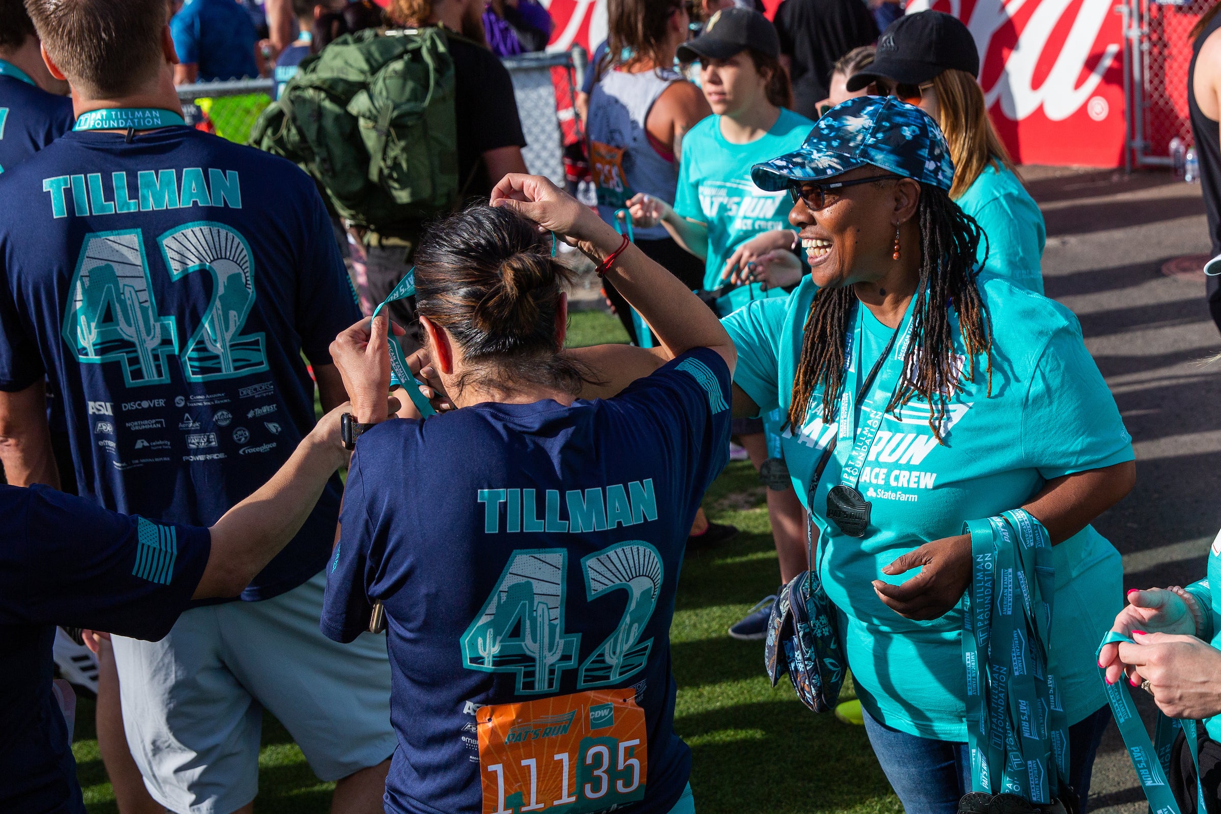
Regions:
[[[1120,9],[1126,17],[1129,161],[1137,167],[1168,165],[1170,142],[1176,137],[1193,142],[1187,107],[1189,34],[1212,2],[1127,0]]]

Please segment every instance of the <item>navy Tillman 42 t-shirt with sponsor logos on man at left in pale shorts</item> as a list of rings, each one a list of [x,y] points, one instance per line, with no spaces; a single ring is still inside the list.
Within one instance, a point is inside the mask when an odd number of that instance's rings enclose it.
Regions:
[[[360,319],[314,182],[179,126],[68,133],[0,183],[0,389],[49,375],[81,494],[212,525],[313,428],[302,351]],[[243,599],[322,569],[341,488]]]

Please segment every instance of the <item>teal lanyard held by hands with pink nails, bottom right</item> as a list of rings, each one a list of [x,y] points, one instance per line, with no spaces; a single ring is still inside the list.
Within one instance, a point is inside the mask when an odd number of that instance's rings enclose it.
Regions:
[[[1123,633],[1110,631],[1103,644],[1098,646],[1099,658],[1103,646],[1112,642],[1128,642],[1132,639]],[[1106,701],[1111,704],[1111,713],[1115,715],[1115,725],[1123,736],[1123,746],[1128,747],[1128,755],[1132,758],[1132,766],[1137,770],[1137,779],[1144,788],[1149,807],[1158,814],[1182,814],[1182,809],[1175,796],[1170,791],[1166,775],[1170,771],[1170,758],[1175,746],[1178,730],[1183,730],[1187,740],[1187,748],[1192,752],[1192,763],[1195,764],[1195,791],[1198,796],[1197,810],[1206,812],[1204,804],[1204,783],[1200,781],[1200,755],[1199,744],[1195,740],[1195,721],[1166,718],[1158,713],[1158,727],[1154,740],[1149,741],[1149,732],[1145,731],[1137,705],[1132,702],[1132,694],[1123,686],[1126,677],[1120,676],[1115,683],[1106,683],[1106,668],[1099,668],[1103,683],[1106,685]]]

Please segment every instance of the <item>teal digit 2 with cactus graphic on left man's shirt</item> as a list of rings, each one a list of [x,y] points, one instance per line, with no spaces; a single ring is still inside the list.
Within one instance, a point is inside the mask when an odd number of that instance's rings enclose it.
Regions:
[[[183,349],[187,380],[233,378],[267,370],[264,334],[242,334],[255,301],[254,258],[245,239],[230,226],[201,221],[166,232],[158,243],[171,279],[200,270],[212,278],[208,310]]]

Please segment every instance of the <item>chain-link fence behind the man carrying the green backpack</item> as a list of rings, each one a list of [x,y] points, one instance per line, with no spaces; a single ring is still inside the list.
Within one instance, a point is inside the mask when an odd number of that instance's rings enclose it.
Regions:
[[[503,60],[526,138],[521,151],[530,172],[564,185],[564,144],[573,139],[575,87],[580,56],[573,51],[523,54]],[[245,144],[259,116],[272,101],[274,79],[234,79],[178,85],[188,124]],[[565,137],[565,124],[569,133]]]

